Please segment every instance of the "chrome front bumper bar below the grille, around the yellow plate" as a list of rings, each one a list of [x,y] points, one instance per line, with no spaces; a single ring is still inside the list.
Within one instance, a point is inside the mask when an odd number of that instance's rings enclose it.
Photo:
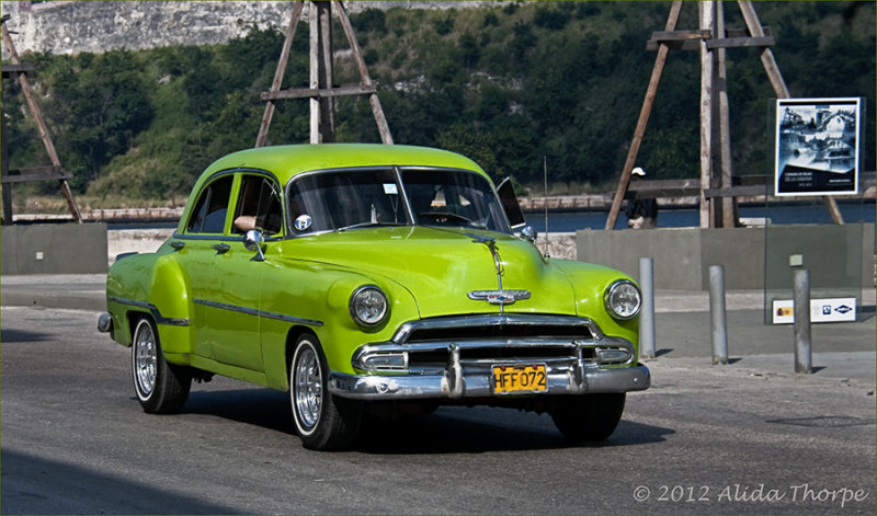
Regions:
[[[489,370],[464,372],[453,369],[442,375],[368,375],[332,372],[329,390],[341,398],[357,400],[414,400],[429,398],[486,398],[494,394]],[[628,392],[648,389],[651,375],[646,366],[613,369],[579,366],[571,370],[548,372],[547,394],[585,394]],[[545,393],[540,393],[543,395]]]

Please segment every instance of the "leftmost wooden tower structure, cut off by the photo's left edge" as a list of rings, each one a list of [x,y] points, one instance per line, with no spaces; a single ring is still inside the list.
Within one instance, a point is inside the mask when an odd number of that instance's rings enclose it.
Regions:
[[[32,65],[22,64],[19,59],[19,53],[15,50],[15,45],[12,44],[12,37],[7,28],[8,20],[9,14],[2,18],[2,21],[0,21],[0,30],[2,30],[3,47],[9,53],[9,60],[12,61],[12,64],[3,65],[2,78],[14,78],[19,81],[21,91],[24,94],[24,99],[27,101],[27,107],[30,108],[34,121],[36,122],[36,128],[39,131],[39,138],[43,140],[43,146],[45,147],[46,153],[52,161],[52,165],[10,170],[9,148],[7,147],[7,119],[4,114],[0,115],[0,117],[2,117],[2,136],[0,136],[2,139],[2,173],[0,175],[0,182],[2,183],[3,188],[2,222],[4,225],[12,223],[12,185],[14,183],[24,183],[31,181],[58,181],[60,183],[61,193],[67,199],[67,206],[70,209],[70,214],[73,216],[73,220],[81,223],[82,215],[79,213],[79,207],[76,205],[76,199],[73,199],[73,194],[70,191],[70,186],[67,184],[67,180],[71,179],[73,175],[61,168],[60,159],[58,159],[58,153],[55,151],[55,145],[52,142],[52,136],[49,135],[48,126],[43,118],[43,113],[39,111],[39,105],[36,103],[33,89],[31,88],[31,82],[27,79],[27,74],[35,71],[34,67]]]

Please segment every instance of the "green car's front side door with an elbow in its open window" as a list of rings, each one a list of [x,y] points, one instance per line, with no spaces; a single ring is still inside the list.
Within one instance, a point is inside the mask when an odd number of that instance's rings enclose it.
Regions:
[[[243,236],[258,229],[271,239],[283,232],[283,208],[276,181],[261,173],[239,173],[224,237],[212,261],[212,293],[207,321],[213,358],[263,371],[261,348],[261,286],[267,267],[247,250]]]

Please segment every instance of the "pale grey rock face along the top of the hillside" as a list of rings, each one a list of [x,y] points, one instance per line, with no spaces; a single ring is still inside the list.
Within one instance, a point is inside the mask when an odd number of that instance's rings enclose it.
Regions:
[[[496,1],[349,1],[349,12],[365,9],[471,8]],[[251,27],[286,30],[288,1],[3,1],[2,14],[19,54],[102,53],[168,45],[224,43]],[[307,16],[307,9],[305,10]],[[3,58],[5,58],[5,50]]]

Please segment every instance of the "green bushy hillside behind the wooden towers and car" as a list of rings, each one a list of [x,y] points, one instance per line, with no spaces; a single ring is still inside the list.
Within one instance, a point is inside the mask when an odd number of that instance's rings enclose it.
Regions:
[[[627,153],[669,2],[519,2],[486,9],[394,8],[352,16],[398,144],[462,151],[494,177],[542,184],[547,159],[556,192],[612,190]],[[756,2],[795,96],[865,96],[865,169],[874,170],[875,3]],[[679,28],[697,27],[683,7]],[[743,27],[726,2],[729,27]],[[284,87],[307,84],[300,24]],[[334,31],[335,49],[346,48]],[[255,141],[283,35],[253,27],[226,45],[30,55],[36,88],[72,185],[90,207],[179,204],[214,159]],[[357,80],[339,51],[338,83]],[[728,51],[736,174],[768,173],[773,90],[758,49]],[[45,162],[15,84],[3,83],[11,165]],[[698,175],[699,59],[670,54],[638,165],[652,177]],[[338,139],[379,141],[364,98],[341,99]],[[306,142],[306,101],[283,101],[272,144]],[[16,187],[16,199],[54,184]],[[540,187],[539,187],[540,191]]]

